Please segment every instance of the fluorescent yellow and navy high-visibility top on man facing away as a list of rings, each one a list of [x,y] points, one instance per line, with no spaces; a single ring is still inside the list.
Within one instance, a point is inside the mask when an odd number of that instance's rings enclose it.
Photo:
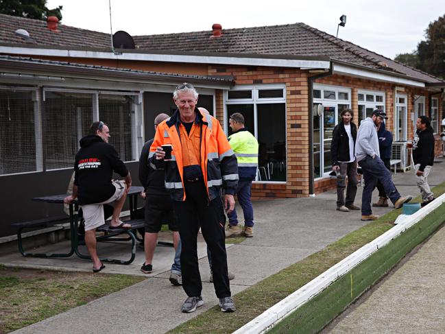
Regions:
[[[228,137],[237,156],[239,180],[255,180],[258,167],[258,141],[248,129],[242,128]]]

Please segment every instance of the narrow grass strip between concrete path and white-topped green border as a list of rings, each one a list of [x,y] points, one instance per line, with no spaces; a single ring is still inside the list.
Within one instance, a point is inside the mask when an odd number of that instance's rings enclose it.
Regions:
[[[445,193],[445,182],[434,187],[433,192],[435,197]],[[420,202],[420,198],[415,198],[413,202]],[[378,220],[350,232],[320,252],[311,254],[302,261],[241,291],[234,296],[237,304],[236,312],[222,313],[219,307],[213,307],[168,333],[216,334],[236,331],[243,324],[256,318],[257,315],[289,296],[293,291],[309,283],[355,250],[392,228],[394,226],[392,223],[401,211],[401,209],[393,210]]]

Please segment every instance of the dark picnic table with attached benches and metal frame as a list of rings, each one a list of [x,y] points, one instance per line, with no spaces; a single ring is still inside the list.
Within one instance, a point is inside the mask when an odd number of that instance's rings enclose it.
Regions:
[[[104,235],[97,236],[97,241],[132,241],[131,248],[131,257],[128,260],[121,259],[101,259],[101,261],[118,263],[118,264],[130,264],[134,260],[136,256],[136,237],[135,230],[142,228],[144,225],[144,219],[138,219],[135,217],[135,213],[137,210],[137,202],[139,193],[143,191],[143,187],[130,187],[130,191],[128,191],[127,198],[130,202],[130,220],[125,223],[130,224],[132,228],[113,228],[110,230],[108,224],[104,224],[97,228],[97,232],[104,232]],[[55,203],[55,204],[64,204],[63,200],[67,197],[68,194],[60,194],[60,195],[49,195],[43,197],[32,198],[34,202],[45,202],[45,203]],[[89,254],[82,254],[78,249],[80,245],[78,237],[77,237],[77,227],[78,227],[78,214],[77,214],[77,200],[73,201],[69,204],[69,224],[70,224],[70,236],[71,236],[71,249],[67,253],[35,253],[35,252],[25,252],[23,250],[22,237],[21,232],[24,228],[36,228],[41,226],[46,226],[47,224],[53,224],[56,222],[60,222],[62,217],[51,217],[47,219],[37,219],[31,222],[21,222],[12,224],[12,226],[18,227],[17,231],[17,241],[19,244],[19,251],[24,257],[71,257],[73,254],[76,254],[78,257],[82,259],[91,259]],[[66,217],[65,217],[66,219]],[[119,235],[126,234],[128,237],[117,237]]]

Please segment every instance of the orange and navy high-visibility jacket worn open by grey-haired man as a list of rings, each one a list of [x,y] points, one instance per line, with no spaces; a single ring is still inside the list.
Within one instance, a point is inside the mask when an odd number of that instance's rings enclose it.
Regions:
[[[204,114],[195,109],[196,122],[202,126],[201,134],[201,169],[204,176],[204,184],[207,187],[209,200],[220,195],[221,186],[226,194],[234,194],[238,185],[237,158],[234,155],[226,134],[219,121],[211,115]],[[152,167],[165,168],[165,188],[171,198],[176,201],[184,201],[184,175],[181,141],[179,136],[180,114],[179,111],[163,121],[156,128],[154,141],[150,147],[149,161]],[[171,160],[157,160],[156,147],[171,144]]]

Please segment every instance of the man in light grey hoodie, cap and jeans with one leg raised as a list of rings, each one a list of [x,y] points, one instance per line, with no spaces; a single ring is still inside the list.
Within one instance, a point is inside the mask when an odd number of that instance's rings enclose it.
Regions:
[[[394,204],[394,208],[401,208],[404,203],[411,200],[411,196],[402,197],[398,193],[394,182],[392,182],[391,172],[385,167],[380,158],[378,149],[377,126],[387,119],[383,110],[376,109],[371,117],[363,119],[360,124],[355,143],[355,157],[359,166],[363,170],[365,187],[361,196],[361,220],[375,220],[377,215],[372,214],[371,198],[372,191],[376,187],[377,181],[383,184],[385,193]]]

